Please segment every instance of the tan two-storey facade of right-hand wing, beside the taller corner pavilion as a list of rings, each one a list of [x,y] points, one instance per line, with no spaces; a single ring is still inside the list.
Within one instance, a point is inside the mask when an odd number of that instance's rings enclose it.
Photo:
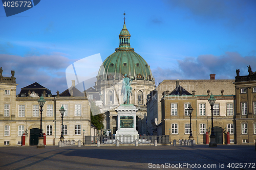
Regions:
[[[190,129],[188,124],[190,124],[190,117],[189,114],[185,114],[185,105],[190,104],[194,109],[191,113],[193,137],[197,144],[205,143],[205,133],[208,132],[210,135],[211,128],[211,107],[208,98],[208,95],[164,96],[161,100],[162,135],[170,135],[170,140],[189,138]],[[216,132],[219,133],[219,144],[227,143],[226,135],[228,131],[230,132],[230,139],[232,139],[230,141],[234,143],[234,95],[216,95],[215,98],[218,111],[213,118],[214,127],[221,129],[221,132]],[[177,106],[177,115],[172,115],[172,104]]]

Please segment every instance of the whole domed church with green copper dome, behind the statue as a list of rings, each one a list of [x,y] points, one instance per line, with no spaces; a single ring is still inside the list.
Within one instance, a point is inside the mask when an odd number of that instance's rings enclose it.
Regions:
[[[94,88],[103,100],[103,112],[106,118],[104,127],[115,134],[117,130],[115,108],[123,104],[122,79],[123,75],[127,74],[132,80],[130,104],[138,109],[136,129],[140,135],[143,135],[146,134],[146,96],[155,89],[156,85],[150,65],[131,47],[130,37],[124,22],[119,34],[119,47],[100,66]]]

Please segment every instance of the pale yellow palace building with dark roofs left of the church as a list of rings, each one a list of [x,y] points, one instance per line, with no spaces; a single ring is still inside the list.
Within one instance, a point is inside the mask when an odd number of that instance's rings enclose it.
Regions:
[[[11,77],[0,76],[0,145],[37,145],[40,130],[40,107],[37,100],[43,95],[46,103],[42,111],[42,129],[46,145],[58,144],[61,135],[61,114],[63,106],[63,136],[65,140],[81,140],[83,135],[94,135],[91,126],[90,105],[73,85],[57,95],[51,90],[33,83],[22,88],[16,95],[14,71]],[[74,95],[74,96],[73,96]],[[22,141],[25,133],[26,139]]]

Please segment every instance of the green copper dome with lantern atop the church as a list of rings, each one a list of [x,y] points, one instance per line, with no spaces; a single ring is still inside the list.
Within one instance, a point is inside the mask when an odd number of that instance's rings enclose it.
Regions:
[[[150,66],[130,46],[130,33],[125,23],[119,34],[119,47],[100,66],[97,81],[122,79],[127,74],[131,79],[152,81]]]

